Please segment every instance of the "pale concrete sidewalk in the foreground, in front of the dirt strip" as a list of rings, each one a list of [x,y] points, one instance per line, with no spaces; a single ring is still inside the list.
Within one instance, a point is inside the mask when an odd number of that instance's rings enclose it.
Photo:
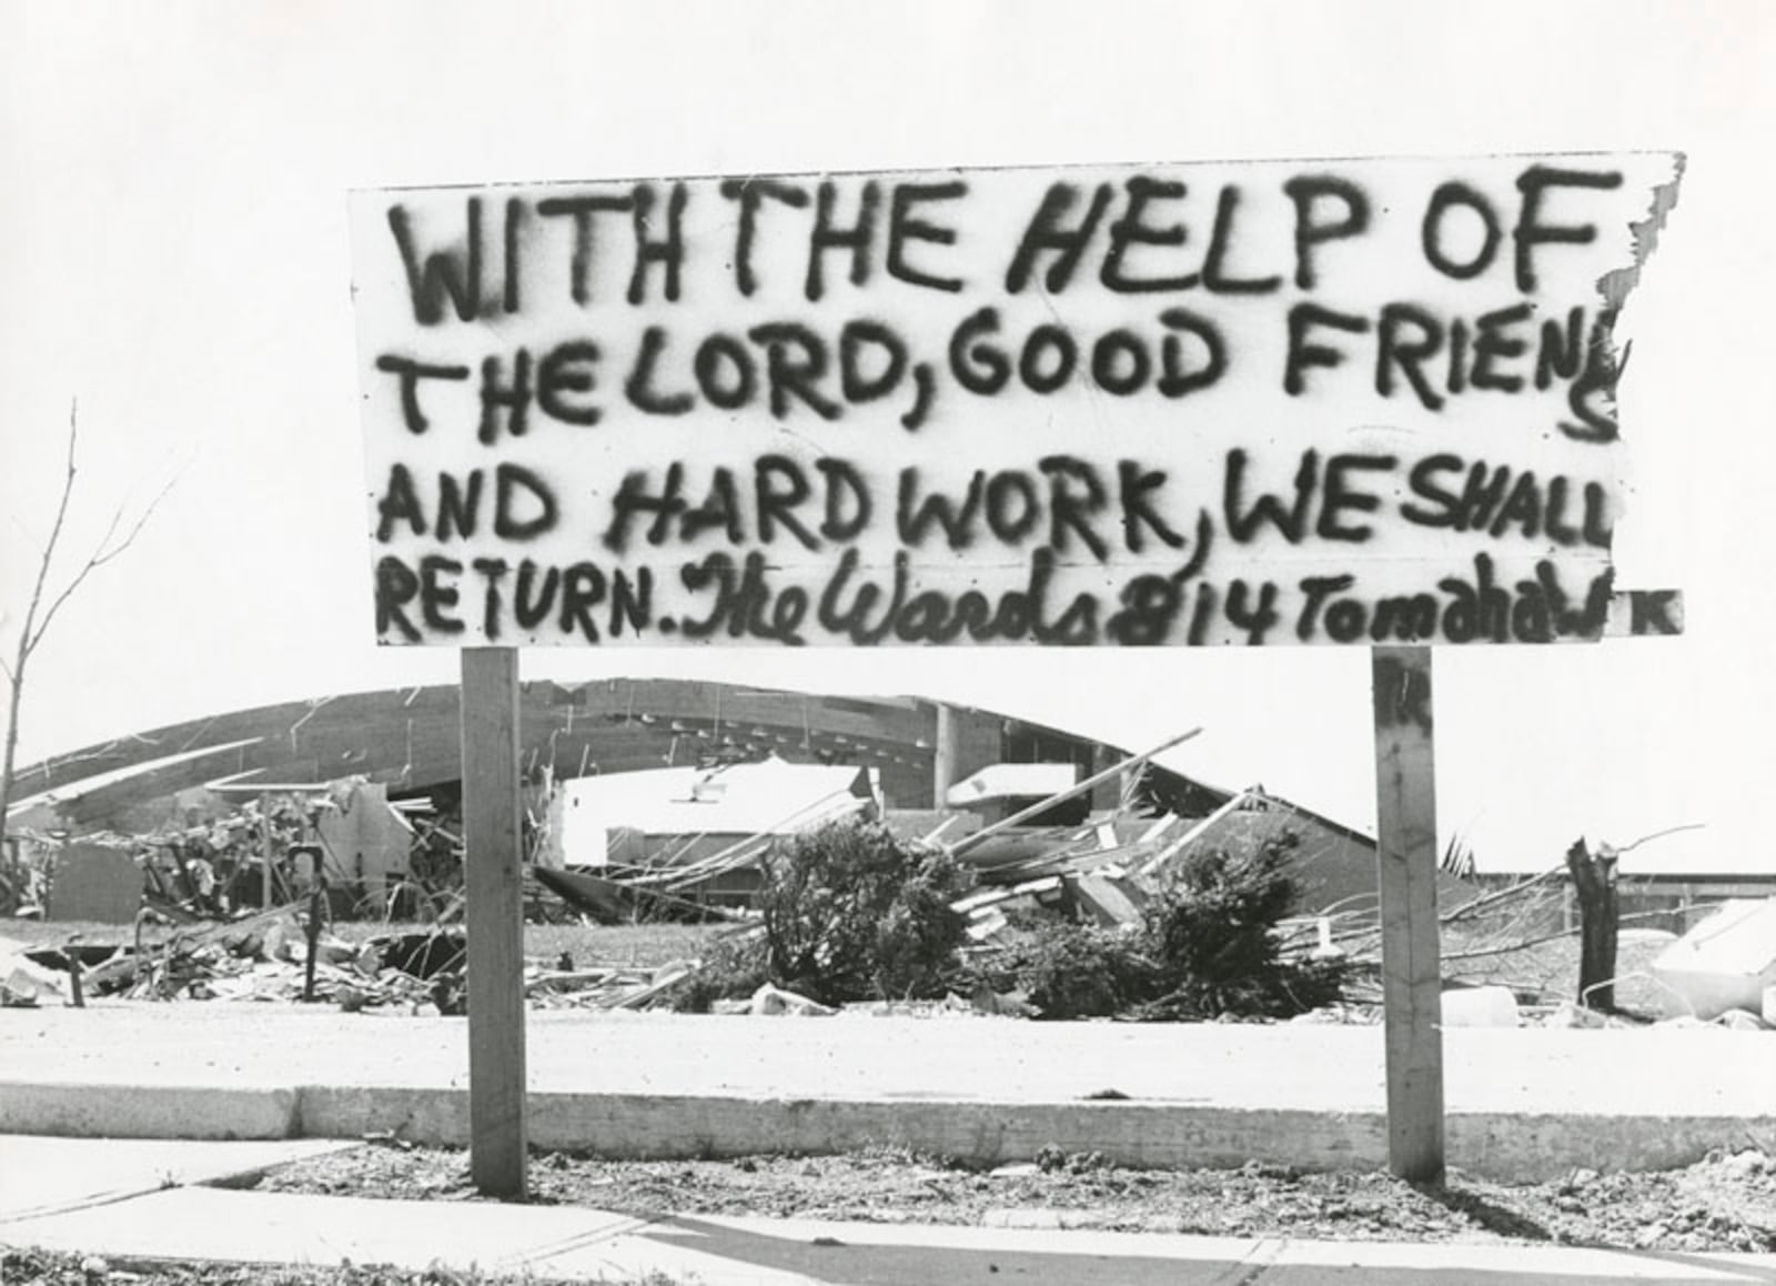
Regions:
[[[227,1181],[313,1144],[115,1144],[0,1137],[0,1243],[107,1259],[440,1265],[531,1279],[702,1286],[1323,1286],[1330,1282],[1776,1282],[1776,1256],[1513,1245],[1295,1242],[682,1217],[568,1206],[309,1197],[169,1183]],[[124,1176],[155,1178],[128,1194]],[[23,1178],[20,1178],[23,1176]],[[124,1185],[128,1187],[128,1185]],[[46,1208],[43,1192],[57,1192]],[[36,1195],[27,1195],[36,1194]],[[27,1204],[28,1203],[28,1204]],[[98,1204],[108,1203],[108,1204]]]

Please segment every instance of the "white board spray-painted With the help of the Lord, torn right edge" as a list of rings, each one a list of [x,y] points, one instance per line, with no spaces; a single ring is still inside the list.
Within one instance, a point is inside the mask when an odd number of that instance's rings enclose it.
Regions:
[[[377,636],[1598,638],[1613,327],[1678,171],[353,194]]]

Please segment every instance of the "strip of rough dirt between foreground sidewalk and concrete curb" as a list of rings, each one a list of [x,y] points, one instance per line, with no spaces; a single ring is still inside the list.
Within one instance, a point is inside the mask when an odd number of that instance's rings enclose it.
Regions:
[[[606,1162],[545,1153],[533,1201],[638,1217],[765,1215],[1089,1227],[1364,1242],[1513,1242],[1641,1250],[1776,1250],[1776,1158],[1719,1155],[1685,1171],[1577,1171],[1540,1185],[1453,1174],[1128,1171],[1092,1155],[980,1172],[899,1151],[735,1162]],[[263,1190],[476,1201],[467,1153],[369,1144],[275,1171]]]

